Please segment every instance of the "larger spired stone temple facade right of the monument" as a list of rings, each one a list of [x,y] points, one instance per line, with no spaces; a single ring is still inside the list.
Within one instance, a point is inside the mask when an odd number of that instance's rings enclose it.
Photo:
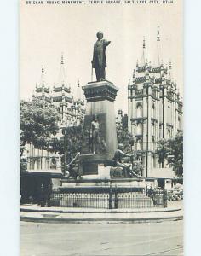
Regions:
[[[152,177],[153,169],[167,167],[158,164],[158,141],[182,131],[183,104],[172,78],[172,65],[164,66],[161,60],[159,31],[156,52],[156,59],[148,62],[143,40],[142,58],[128,85],[129,132],[135,137],[133,150],[140,153],[145,166],[143,177]]]

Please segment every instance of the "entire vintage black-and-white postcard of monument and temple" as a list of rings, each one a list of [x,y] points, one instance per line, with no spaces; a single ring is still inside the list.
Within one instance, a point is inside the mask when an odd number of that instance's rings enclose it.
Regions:
[[[182,1],[20,1],[20,255],[183,254]]]

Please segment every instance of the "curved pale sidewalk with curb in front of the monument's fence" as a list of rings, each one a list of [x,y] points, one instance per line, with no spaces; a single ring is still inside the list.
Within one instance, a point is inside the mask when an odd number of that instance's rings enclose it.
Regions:
[[[20,218],[34,222],[152,222],[183,218],[182,201],[169,201],[167,208],[94,209],[22,205]]]

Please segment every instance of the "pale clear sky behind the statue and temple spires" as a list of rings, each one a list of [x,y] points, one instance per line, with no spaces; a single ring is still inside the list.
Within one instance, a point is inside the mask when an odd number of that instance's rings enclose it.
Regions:
[[[161,59],[172,62],[172,76],[183,93],[182,1],[173,4],[20,4],[20,99],[31,99],[40,82],[42,63],[49,86],[58,83],[60,56],[64,55],[66,82],[76,90],[91,81],[91,60],[96,32],[111,41],[106,49],[106,79],[119,91],[116,109],[127,112],[127,85],[136,61],[157,57],[157,28]],[[95,80],[95,71],[94,71]]]

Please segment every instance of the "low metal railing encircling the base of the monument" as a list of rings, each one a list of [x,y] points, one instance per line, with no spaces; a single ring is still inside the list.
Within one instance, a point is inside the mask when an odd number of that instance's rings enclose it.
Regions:
[[[167,207],[167,194],[162,189],[132,187],[62,188],[52,193],[50,204],[103,209]]]

